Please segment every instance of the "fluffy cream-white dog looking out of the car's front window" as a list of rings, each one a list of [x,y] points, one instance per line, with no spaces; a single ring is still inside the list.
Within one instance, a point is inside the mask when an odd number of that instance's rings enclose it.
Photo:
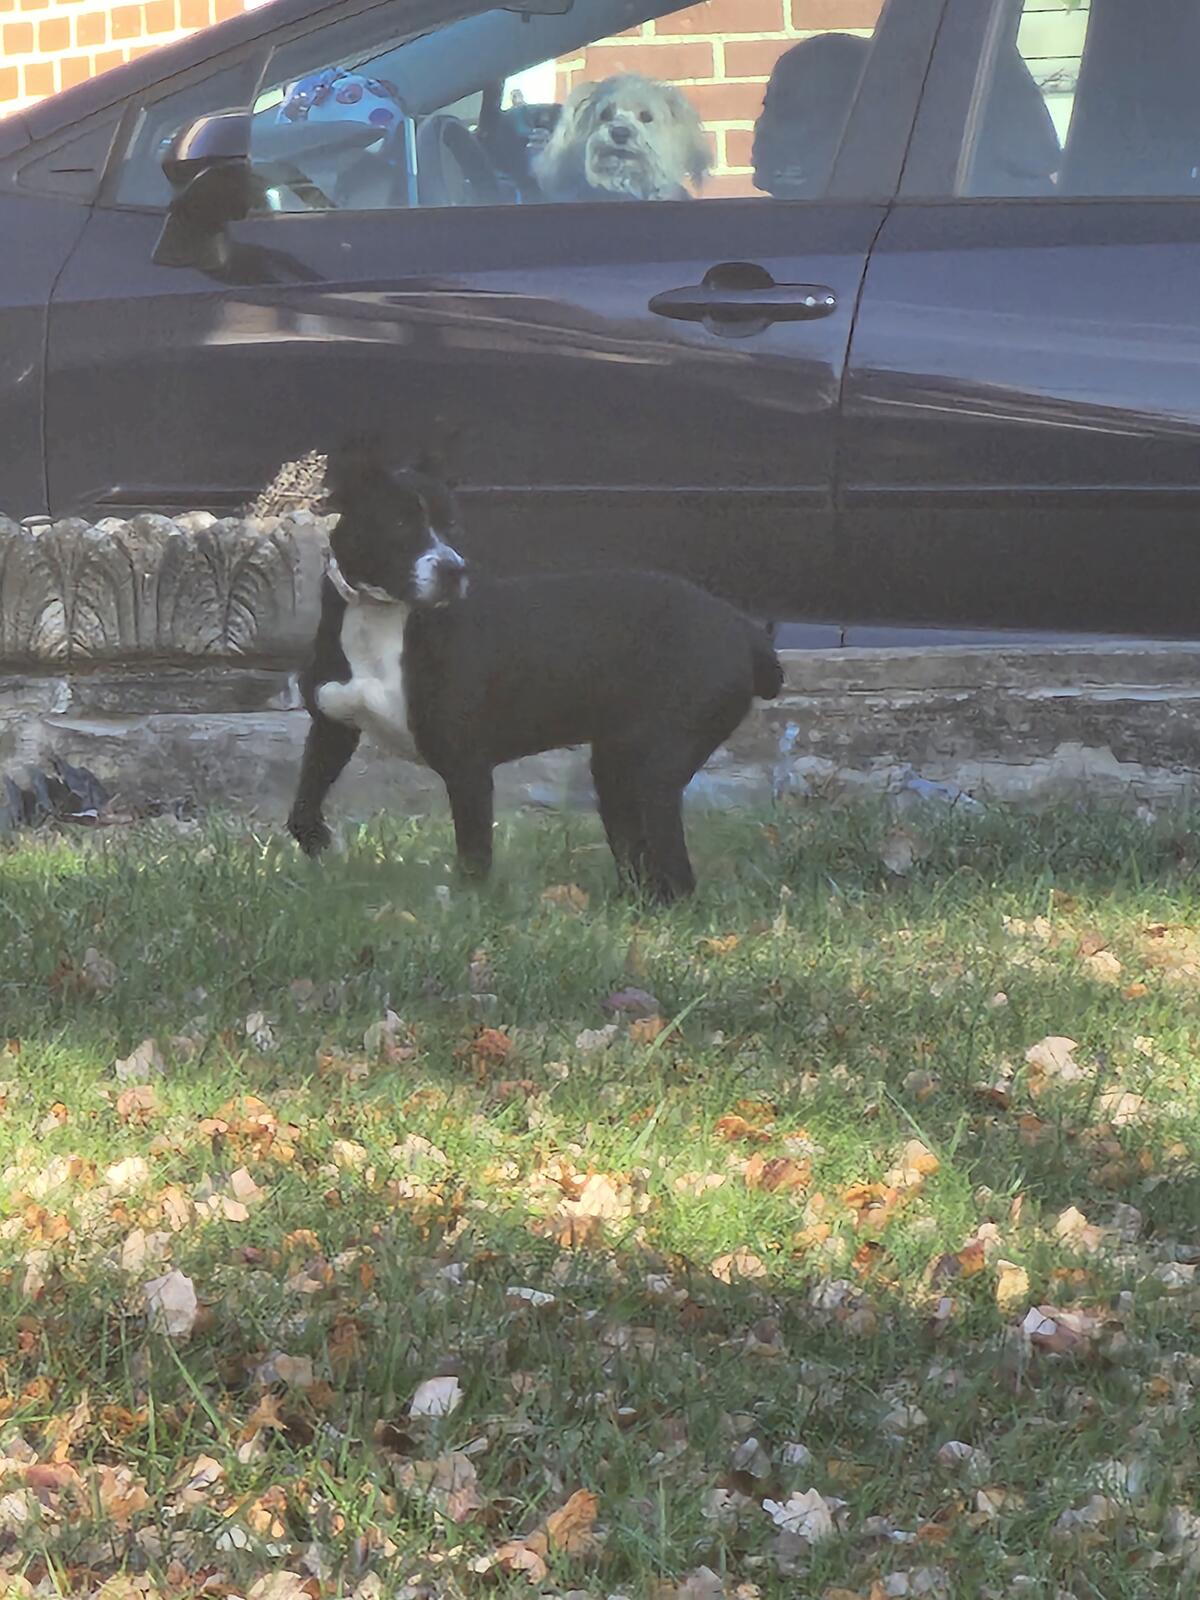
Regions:
[[[670,83],[626,72],[573,90],[533,158],[546,200],[686,200],[712,165],[704,123]]]

